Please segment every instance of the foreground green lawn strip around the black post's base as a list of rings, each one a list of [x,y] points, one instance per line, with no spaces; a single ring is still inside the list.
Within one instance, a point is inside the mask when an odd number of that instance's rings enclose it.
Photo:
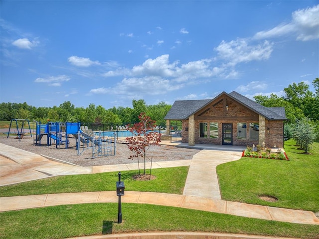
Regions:
[[[60,239],[128,232],[223,232],[318,239],[319,226],[282,223],[156,205],[80,204],[4,212],[0,239]]]

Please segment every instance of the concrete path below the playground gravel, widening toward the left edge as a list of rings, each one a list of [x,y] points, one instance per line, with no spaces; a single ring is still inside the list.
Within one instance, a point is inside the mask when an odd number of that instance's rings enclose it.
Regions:
[[[191,160],[153,162],[152,168],[189,166]],[[147,163],[150,168],[151,163]],[[96,174],[139,169],[138,164],[82,167],[0,143],[0,186],[59,175]]]

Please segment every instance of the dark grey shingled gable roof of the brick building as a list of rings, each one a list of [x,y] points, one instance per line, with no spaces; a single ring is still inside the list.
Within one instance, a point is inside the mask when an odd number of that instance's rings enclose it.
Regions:
[[[214,101],[221,95],[232,98],[238,103],[246,106],[259,115],[262,115],[268,120],[288,120],[286,118],[286,112],[284,107],[265,107],[255,101],[233,91],[229,94],[222,92],[212,100],[178,100],[175,101],[164,119],[168,120],[185,120],[189,116],[195,114],[200,109],[204,108],[207,104]]]

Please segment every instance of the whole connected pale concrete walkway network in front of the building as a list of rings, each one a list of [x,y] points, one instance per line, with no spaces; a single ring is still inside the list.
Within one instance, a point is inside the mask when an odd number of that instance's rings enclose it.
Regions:
[[[136,164],[80,167],[48,160],[43,156],[4,144],[0,144],[0,155],[3,156],[0,157],[0,180],[2,185],[4,185],[3,181],[5,184],[13,184],[55,175],[116,172],[132,170],[137,167]],[[126,192],[125,196],[122,197],[122,202],[182,207],[249,218],[319,225],[319,219],[313,212],[221,200],[219,198],[220,192],[215,167],[219,163],[237,160],[240,156],[240,151],[202,150],[193,156],[193,160],[156,162],[156,165],[153,163],[153,168],[190,166],[183,195]],[[201,165],[201,163],[203,164]],[[211,166],[207,167],[207,165]],[[203,184],[203,187],[199,187],[203,181],[209,181],[209,183]],[[212,193],[206,195],[207,191]],[[214,198],[216,195],[218,198]],[[0,198],[0,211],[48,207],[61,204],[114,202],[118,202],[115,192],[2,197]]]

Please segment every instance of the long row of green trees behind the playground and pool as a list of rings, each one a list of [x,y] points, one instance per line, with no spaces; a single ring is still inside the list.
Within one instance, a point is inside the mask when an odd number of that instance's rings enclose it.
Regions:
[[[105,109],[102,105],[89,104],[88,107],[75,107],[70,101],[59,106],[34,107],[24,103],[0,103],[0,120],[29,119],[38,122],[90,122],[97,124],[127,125],[139,121],[145,112],[158,125],[165,125],[164,117],[171,105],[160,102],[147,105],[143,99],[133,100],[133,108],[113,107]]]

